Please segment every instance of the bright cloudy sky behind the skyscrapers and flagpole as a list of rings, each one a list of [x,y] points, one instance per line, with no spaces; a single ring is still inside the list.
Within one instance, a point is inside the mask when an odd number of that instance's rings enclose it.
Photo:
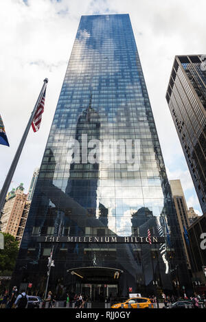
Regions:
[[[25,192],[41,164],[67,62],[84,14],[130,14],[168,178],[181,179],[188,207],[202,214],[165,92],[174,56],[206,54],[205,0],[1,0],[0,113],[10,148],[0,146],[0,189],[49,78],[41,129],[30,130],[12,187]]]

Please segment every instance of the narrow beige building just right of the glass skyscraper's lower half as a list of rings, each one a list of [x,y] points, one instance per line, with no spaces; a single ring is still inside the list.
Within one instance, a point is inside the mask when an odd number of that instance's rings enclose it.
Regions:
[[[174,201],[174,206],[176,208],[176,214],[179,221],[179,227],[181,229],[181,234],[183,237],[183,244],[185,253],[187,256],[188,268],[191,268],[190,257],[188,255],[187,246],[184,237],[184,227],[187,230],[190,227],[190,221],[187,215],[187,203],[185,200],[185,195],[180,180],[170,180],[170,187],[172,190],[172,198]]]

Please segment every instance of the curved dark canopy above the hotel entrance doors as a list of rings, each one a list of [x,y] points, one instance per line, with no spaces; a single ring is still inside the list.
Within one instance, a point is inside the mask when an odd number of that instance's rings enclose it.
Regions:
[[[105,281],[117,281],[117,279],[119,279],[123,271],[118,268],[91,266],[71,268],[67,271],[67,273],[70,273],[71,275],[76,275],[76,277],[79,277],[82,280],[87,279],[87,281],[98,281],[99,279],[105,279]]]

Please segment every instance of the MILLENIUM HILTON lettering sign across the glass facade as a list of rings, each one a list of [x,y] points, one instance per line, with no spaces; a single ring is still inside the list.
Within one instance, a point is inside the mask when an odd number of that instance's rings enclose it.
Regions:
[[[40,236],[37,238],[37,242],[87,242],[87,243],[137,243],[148,244],[150,241],[148,237],[119,237],[119,236]],[[152,244],[162,244],[165,242],[165,238],[151,236]]]

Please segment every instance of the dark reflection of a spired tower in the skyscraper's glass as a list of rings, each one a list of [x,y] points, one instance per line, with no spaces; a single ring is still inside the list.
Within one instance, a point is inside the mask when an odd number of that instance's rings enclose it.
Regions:
[[[76,125],[75,139],[80,143],[80,163],[70,163],[70,180],[65,193],[87,209],[87,214],[92,217],[96,214],[99,164],[82,163],[82,135],[87,135],[88,140],[100,138],[100,118],[95,109],[91,108],[91,102],[92,95],[88,108],[81,113]]]

